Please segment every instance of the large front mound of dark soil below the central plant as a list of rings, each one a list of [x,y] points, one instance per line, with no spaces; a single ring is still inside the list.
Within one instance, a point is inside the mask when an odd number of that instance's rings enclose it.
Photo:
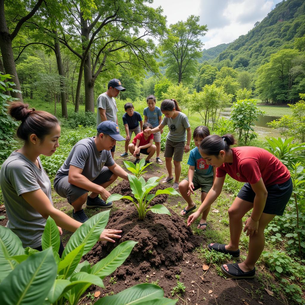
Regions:
[[[138,212],[134,206],[118,210],[111,214],[107,228],[122,230],[122,237],[117,242],[98,242],[84,256],[91,264],[105,257],[118,243],[134,240],[135,245],[124,265],[115,272],[119,278],[126,274],[139,278],[151,267],[177,266],[183,254],[192,250],[189,242],[192,235],[184,220],[171,211],[171,216],[148,212],[144,221],[138,220]]]

